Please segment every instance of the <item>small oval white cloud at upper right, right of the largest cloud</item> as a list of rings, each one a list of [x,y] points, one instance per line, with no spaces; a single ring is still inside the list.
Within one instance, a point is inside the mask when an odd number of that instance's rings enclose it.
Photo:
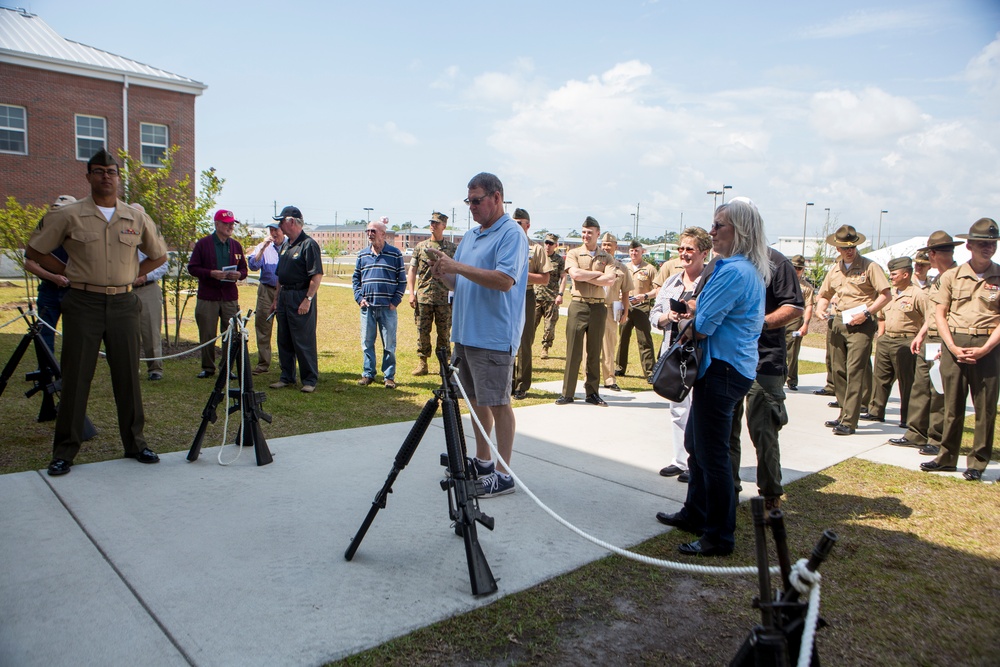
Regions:
[[[812,97],[811,110],[813,126],[833,141],[867,143],[897,137],[926,120],[916,104],[878,88],[819,92]]]

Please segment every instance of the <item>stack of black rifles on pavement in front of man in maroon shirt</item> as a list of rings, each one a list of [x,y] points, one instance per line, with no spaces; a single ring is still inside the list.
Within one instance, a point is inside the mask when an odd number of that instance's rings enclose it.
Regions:
[[[237,332],[250,319],[252,312],[252,310],[248,310],[245,316],[236,315],[232,318],[230,321],[230,335],[237,335]],[[244,447],[252,446],[254,454],[257,457],[257,465],[267,465],[274,461],[274,458],[272,458],[271,450],[267,446],[264,432],[260,428],[260,420],[263,419],[270,424],[271,415],[264,412],[260,407],[260,404],[267,400],[267,395],[262,391],[254,391],[253,389],[253,374],[249,372],[250,352],[247,350],[246,339],[240,336],[238,344],[235,340],[230,341],[227,355],[229,369],[236,369],[239,387],[236,389],[229,388],[229,373],[226,372],[226,366],[223,365],[219,369],[218,377],[215,380],[215,387],[208,397],[205,409],[201,411],[201,425],[198,426],[194,442],[191,443],[187,460],[198,460],[208,425],[209,423],[214,424],[218,420],[219,404],[228,397],[231,400],[231,404],[227,406],[229,414],[239,412],[241,406],[243,409],[243,420],[236,431],[234,443],[242,444]],[[237,363],[240,359],[242,359],[243,363]]]

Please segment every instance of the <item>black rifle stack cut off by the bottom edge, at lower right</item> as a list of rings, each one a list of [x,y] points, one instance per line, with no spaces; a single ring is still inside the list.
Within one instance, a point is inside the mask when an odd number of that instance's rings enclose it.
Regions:
[[[808,605],[799,602],[799,592],[791,585],[789,575],[791,561],[788,556],[785,518],[781,510],[771,510],[764,516],[764,499],[760,496],[750,499],[750,514],[754,522],[754,538],[757,555],[757,578],[759,594],[753,606],[760,609],[761,622],[755,626],[743,641],[730,667],[788,667],[797,664],[805,629]],[[778,567],[781,572],[783,592],[776,595],[771,589],[770,565],[767,555],[767,528],[771,528]],[[819,542],[813,548],[806,569],[815,572],[833,549],[837,535],[830,530],[823,531]],[[822,628],[826,622],[821,618],[816,627]],[[819,654],[813,647],[809,664],[819,667]]]

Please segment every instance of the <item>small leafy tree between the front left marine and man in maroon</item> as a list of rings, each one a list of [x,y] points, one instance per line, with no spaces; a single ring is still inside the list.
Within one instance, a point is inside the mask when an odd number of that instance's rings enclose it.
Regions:
[[[173,175],[174,156],[179,146],[167,149],[166,155],[157,169],[147,169],[125,151],[119,157],[125,165],[125,200],[142,204],[149,217],[160,227],[167,248],[172,251],[170,270],[161,285],[164,296],[170,296],[174,304],[174,345],[180,339],[181,319],[184,307],[190,298],[195,279],[187,272],[188,260],[195,242],[210,233],[209,211],[215,207],[216,199],[222,192],[225,179],[219,178],[215,169],[201,172],[200,188],[196,194],[191,186],[191,175],[182,178]],[[187,294],[184,292],[188,291]],[[182,300],[183,297],[183,300]],[[167,299],[163,299],[163,329],[167,344],[170,344],[170,328],[167,323]]]

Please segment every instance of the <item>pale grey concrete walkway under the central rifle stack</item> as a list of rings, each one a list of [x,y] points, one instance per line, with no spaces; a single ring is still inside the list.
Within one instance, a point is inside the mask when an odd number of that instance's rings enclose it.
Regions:
[[[908,468],[926,460],[884,446],[901,433],[889,423],[846,438],[822,428],[833,413],[812,394],[822,379],[803,376],[789,392],[786,481],[852,456]],[[569,521],[631,546],[663,532],[655,513],[679,509],[686,487],[658,474],[671,451],[664,402],[652,392],[605,398],[608,409],[518,408],[513,468]],[[438,484],[438,420],[346,562],[410,426],[271,440],[274,463],[262,468],[251,451],[220,466],[218,448],[207,448],[195,463],[176,452],[156,466],[118,460],[60,478],[0,476],[0,665],[321,665],[605,555],[523,492],[483,499],[496,529],[480,529],[480,542],[499,591],[474,598]],[[466,421],[470,442],[471,428]],[[742,477],[752,480],[748,438],[743,454]],[[985,478],[996,480],[996,466]]]

